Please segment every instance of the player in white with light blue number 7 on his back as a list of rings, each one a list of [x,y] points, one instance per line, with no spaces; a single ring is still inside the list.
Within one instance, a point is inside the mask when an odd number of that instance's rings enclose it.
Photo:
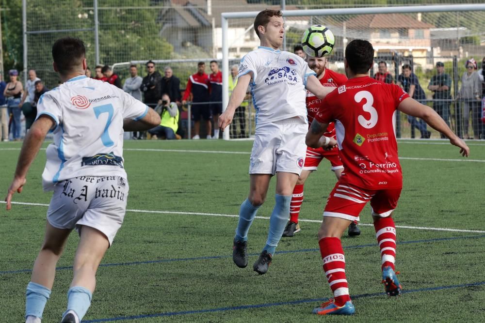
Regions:
[[[62,323],[81,322],[91,304],[99,262],[125,215],[129,186],[123,167],[123,132],[160,124],[153,109],[128,93],[87,78],[85,52],[76,38],[62,38],[52,46],[53,67],[63,84],[40,97],[37,119],[24,140],[5,198],[10,210],[12,195],[22,191],[46,134],[53,131],[42,182],[44,190],[54,194],[44,243],[27,285],[27,323],[41,322],[57,261],[73,229],[79,231],[80,242]]]

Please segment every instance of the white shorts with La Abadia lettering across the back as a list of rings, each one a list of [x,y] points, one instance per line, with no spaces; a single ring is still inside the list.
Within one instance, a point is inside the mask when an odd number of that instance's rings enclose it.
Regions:
[[[101,231],[113,243],[125,218],[128,181],[119,176],[80,176],[54,186],[47,220],[58,229]],[[80,232],[81,233],[81,232]]]

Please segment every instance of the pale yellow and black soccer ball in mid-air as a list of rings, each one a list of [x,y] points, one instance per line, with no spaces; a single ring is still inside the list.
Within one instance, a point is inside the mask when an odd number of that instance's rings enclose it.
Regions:
[[[327,56],[335,45],[335,37],[328,28],[314,25],[308,28],[302,37],[302,46],[305,53],[313,57]]]

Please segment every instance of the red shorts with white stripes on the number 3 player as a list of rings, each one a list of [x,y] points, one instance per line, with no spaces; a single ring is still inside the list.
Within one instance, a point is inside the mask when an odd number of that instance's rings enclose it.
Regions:
[[[323,216],[359,221],[359,214],[371,202],[371,214],[386,217],[397,207],[402,188],[370,190],[337,182],[328,197]]]

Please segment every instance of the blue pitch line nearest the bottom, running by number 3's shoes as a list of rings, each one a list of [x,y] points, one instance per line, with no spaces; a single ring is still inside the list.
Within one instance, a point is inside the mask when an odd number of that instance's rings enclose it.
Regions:
[[[448,290],[448,289],[454,289],[454,288],[463,288],[463,287],[467,288],[467,287],[482,286],[482,285],[485,285],[485,281],[480,281],[480,282],[476,282],[476,283],[469,283],[469,284],[418,288],[418,289],[414,289],[414,290],[404,290],[404,291],[402,291],[402,293],[408,294],[408,293],[413,293],[413,292],[441,291],[441,290]],[[387,296],[387,295],[386,295],[385,292],[376,292],[376,293],[353,295],[352,299],[368,298],[368,297],[376,297],[376,296]],[[266,303],[266,304],[255,304],[255,305],[241,305],[241,306],[233,306],[233,307],[225,307],[225,308],[209,308],[209,309],[196,309],[196,310],[180,311],[180,312],[164,312],[164,313],[157,313],[157,314],[141,314],[141,315],[132,315],[132,316],[119,316],[119,317],[106,318],[106,319],[82,321],[82,323],[127,321],[127,320],[146,319],[146,318],[153,318],[153,317],[169,317],[169,316],[187,315],[187,314],[224,312],[224,311],[233,311],[233,310],[240,310],[240,309],[271,308],[271,307],[275,307],[275,306],[298,305],[298,304],[305,304],[305,303],[317,303],[318,304],[318,303],[326,302],[327,300],[328,300],[328,298],[300,299],[300,300],[288,301],[288,302]]]

